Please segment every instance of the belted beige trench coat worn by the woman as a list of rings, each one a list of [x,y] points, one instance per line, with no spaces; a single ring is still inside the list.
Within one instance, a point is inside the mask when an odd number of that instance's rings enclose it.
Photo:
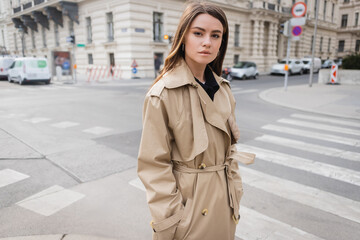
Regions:
[[[235,99],[220,89],[212,101],[185,61],[148,92],[138,175],[147,190],[153,239],[234,239],[243,194],[237,161]]]

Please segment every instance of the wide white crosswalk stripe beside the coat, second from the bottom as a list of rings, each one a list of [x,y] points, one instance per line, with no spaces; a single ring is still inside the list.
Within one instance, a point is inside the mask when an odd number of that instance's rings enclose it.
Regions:
[[[239,166],[243,183],[279,197],[360,223],[360,202]]]

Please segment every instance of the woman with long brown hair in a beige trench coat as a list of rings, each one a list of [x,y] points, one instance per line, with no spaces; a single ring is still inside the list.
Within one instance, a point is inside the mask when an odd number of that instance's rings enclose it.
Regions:
[[[145,98],[138,175],[153,239],[234,239],[240,218],[239,131],[229,83],[220,78],[228,42],[224,12],[184,11],[165,66]]]

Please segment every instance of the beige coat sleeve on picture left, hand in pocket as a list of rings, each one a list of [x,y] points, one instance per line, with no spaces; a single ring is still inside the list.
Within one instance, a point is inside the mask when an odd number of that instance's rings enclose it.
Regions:
[[[173,239],[184,206],[171,163],[171,131],[164,99],[147,95],[138,155],[138,176],[143,182],[153,218],[154,239]]]

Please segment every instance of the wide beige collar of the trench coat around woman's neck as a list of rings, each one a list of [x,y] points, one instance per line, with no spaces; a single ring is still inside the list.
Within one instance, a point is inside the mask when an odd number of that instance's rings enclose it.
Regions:
[[[219,77],[216,73],[214,73],[214,71],[212,71],[212,73],[219,86],[222,82],[229,83],[227,80]],[[165,87],[169,89],[178,88],[188,84],[192,86],[199,85],[184,59],[181,59],[171,72],[168,72],[163,76],[163,81],[165,83]]]

